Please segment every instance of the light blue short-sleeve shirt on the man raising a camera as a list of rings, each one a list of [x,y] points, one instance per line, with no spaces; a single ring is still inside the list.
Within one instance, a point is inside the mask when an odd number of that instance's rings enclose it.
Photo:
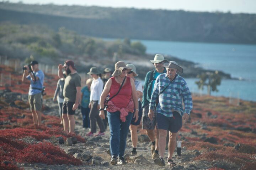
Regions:
[[[44,81],[44,73],[42,70],[38,70],[37,72],[33,72],[39,80],[33,81],[33,79],[28,75],[26,78],[30,80],[30,90],[28,91],[28,95],[35,95],[41,93],[43,88],[43,81]],[[37,89],[33,89],[37,88]]]

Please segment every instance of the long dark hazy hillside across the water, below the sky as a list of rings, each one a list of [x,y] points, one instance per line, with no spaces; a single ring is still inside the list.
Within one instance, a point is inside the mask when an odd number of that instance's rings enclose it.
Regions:
[[[0,22],[66,27],[104,38],[256,44],[256,15],[246,13],[0,2]]]

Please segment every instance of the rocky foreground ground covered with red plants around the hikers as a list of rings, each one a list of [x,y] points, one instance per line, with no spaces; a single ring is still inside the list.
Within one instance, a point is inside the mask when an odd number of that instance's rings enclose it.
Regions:
[[[43,97],[42,126],[31,125],[28,105],[29,84],[14,68],[0,66],[11,74],[11,86],[0,87],[0,169],[160,169],[150,154],[150,142],[139,128],[138,155],[130,156],[132,143],[127,137],[128,164],[110,166],[109,129],[102,137],[85,137],[82,117],[75,114],[75,133],[64,133],[59,124],[58,104],[52,101],[57,76],[46,74],[47,95]],[[172,158],[175,167],[165,170],[253,170],[256,169],[256,103],[241,100],[239,106],[225,97],[193,95],[190,119],[183,123],[178,140],[181,156]],[[165,153],[167,159],[167,150]]]

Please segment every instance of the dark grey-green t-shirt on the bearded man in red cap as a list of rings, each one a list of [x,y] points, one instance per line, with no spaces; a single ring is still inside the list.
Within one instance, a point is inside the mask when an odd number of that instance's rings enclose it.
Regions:
[[[76,87],[81,87],[81,77],[78,73],[69,74],[65,79],[63,96],[65,101],[75,102]]]

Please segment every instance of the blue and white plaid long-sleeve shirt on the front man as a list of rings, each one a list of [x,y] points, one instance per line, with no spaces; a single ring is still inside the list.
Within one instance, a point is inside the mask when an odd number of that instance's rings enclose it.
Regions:
[[[149,109],[155,108],[158,94],[164,90],[170,82],[171,81],[167,77],[167,74],[160,74],[158,78],[156,78],[153,94],[149,103]],[[182,100],[185,104],[185,112],[182,106]],[[183,113],[190,114],[192,108],[192,96],[187,83],[180,75],[177,74],[175,80],[173,80],[159,96],[159,103],[156,107],[156,112],[161,113],[166,117],[172,117],[172,112],[177,111],[182,116]]]

